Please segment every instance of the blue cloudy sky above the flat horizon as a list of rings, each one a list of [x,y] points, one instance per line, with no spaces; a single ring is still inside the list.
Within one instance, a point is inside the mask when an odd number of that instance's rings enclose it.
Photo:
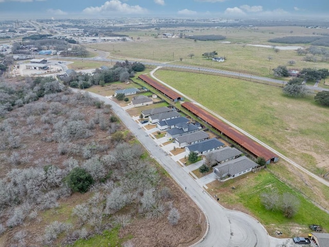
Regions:
[[[328,0],[0,0],[1,19],[115,18],[329,18]]]

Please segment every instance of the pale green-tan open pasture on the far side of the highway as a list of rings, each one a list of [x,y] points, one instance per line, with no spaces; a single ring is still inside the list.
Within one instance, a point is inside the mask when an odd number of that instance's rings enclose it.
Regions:
[[[292,33],[290,33],[293,31]],[[161,29],[160,32],[180,33],[178,29]],[[325,31],[324,31],[325,32]],[[184,38],[156,39],[154,30],[140,30],[136,33],[129,32],[134,42],[117,42],[97,44],[98,49],[108,51],[110,57],[133,60],[143,59],[148,61],[172,62],[181,65],[212,67],[232,70],[235,72],[272,77],[272,69],[278,65],[287,65],[294,60],[291,68],[329,68],[329,63],[305,62],[304,56],[298,56],[295,50],[280,50],[275,52],[272,48],[248,46],[246,44],[265,44],[284,46],[284,44],[269,43],[268,40],[284,36],[310,36],[310,29],[303,27],[267,27],[267,28],[208,28],[185,30],[186,35],[221,34],[226,37],[222,41],[197,41]],[[137,38],[140,38],[137,40]],[[305,44],[296,44],[308,47]],[[93,45],[88,45],[92,47]],[[94,45],[96,47],[96,45]],[[205,52],[217,51],[218,56],[227,57],[224,63],[212,62],[202,57]],[[189,54],[194,54],[192,59]],[[271,57],[270,61],[268,57]],[[180,61],[180,58],[182,61]],[[321,57],[318,56],[318,61]]]

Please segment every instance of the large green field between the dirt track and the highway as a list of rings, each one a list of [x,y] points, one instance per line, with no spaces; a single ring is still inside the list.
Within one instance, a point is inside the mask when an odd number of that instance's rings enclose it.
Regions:
[[[329,157],[329,111],[310,95],[221,76],[157,70],[156,77],[312,170]]]

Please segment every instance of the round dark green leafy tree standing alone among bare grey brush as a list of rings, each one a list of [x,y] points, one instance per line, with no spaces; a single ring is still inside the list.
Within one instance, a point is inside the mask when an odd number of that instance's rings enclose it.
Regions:
[[[67,175],[66,182],[72,191],[85,193],[94,184],[94,179],[85,169],[75,167]]]

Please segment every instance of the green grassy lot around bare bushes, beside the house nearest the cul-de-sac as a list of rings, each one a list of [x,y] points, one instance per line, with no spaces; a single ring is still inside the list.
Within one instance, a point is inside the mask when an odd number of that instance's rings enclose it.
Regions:
[[[235,189],[232,189],[232,186]],[[329,230],[328,214],[265,170],[245,174],[240,178],[222,183],[213,182],[209,188],[212,189],[211,193],[215,193],[220,198],[221,204],[242,211],[247,209],[251,215],[264,224],[272,236],[275,230],[282,231],[283,237],[305,235],[310,231],[309,224],[320,224],[324,231]],[[287,219],[280,210],[266,210],[261,203],[260,194],[270,191],[276,191],[280,195],[288,192],[297,197],[300,202],[297,214],[293,218]]]

